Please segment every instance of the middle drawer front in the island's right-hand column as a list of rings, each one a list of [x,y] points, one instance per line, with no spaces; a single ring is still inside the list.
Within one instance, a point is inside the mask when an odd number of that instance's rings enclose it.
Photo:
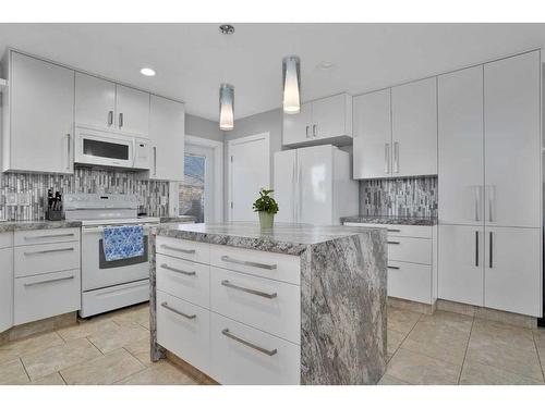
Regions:
[[[210,309],[301,343],[300,286],[211,267]]]

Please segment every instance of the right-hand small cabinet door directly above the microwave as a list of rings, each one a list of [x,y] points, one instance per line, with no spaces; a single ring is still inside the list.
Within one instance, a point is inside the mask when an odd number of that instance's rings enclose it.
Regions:
[[[149,94],[116,85],[116,126],[131,134],[149,133]]]

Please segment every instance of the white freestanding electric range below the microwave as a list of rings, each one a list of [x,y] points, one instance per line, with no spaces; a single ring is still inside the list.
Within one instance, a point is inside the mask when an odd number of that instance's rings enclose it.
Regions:
[[[138,218],[138,198],[123,194],[66,194],[64,217],[82,222],[82,309],[87,318],[149,300],[149,228],[158,218]],[[144,255],[107,261],[104,228],[111,225],[142,225]]]

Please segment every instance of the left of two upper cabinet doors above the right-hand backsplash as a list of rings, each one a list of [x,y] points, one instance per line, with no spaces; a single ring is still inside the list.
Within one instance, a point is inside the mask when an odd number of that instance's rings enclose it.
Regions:
[[[376,178],[391,172],[390,89],[354,98],[354,178]]]

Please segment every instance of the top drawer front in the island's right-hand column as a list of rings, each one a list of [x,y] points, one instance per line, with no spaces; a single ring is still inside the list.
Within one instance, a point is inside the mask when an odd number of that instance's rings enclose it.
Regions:
[[[210,264],[299,285],[300,258],[291,255],[210,245]]]

